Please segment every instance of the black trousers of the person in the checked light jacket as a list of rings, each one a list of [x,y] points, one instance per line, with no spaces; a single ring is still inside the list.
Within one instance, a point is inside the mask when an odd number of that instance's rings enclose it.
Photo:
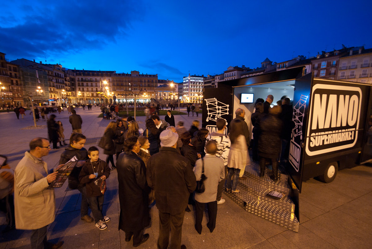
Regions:
[[[217,218],[217,201],[212,201],[208,203],[201,203],[198,201],[195,201],[195,229],[196,232],[199,234],[202,233],[202,220],[203,220],[203,213],[205,204],[207,204],[208,209],[208,219],[209,222],[207,223],[207,227],[209,228],[209,231],[212,233],[213,230],[216,227],[216,218]]]

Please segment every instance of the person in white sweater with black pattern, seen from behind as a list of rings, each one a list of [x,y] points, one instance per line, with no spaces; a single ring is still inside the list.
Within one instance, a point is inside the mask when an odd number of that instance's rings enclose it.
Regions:
[[[219,118],[216,122],[217,132],[212,132],[208,135],[205,144],[209,141],[215,141],[217,144],[216,156],[221,157],[224,160],[225,176],[227,175],[227,157],[229,155],[231,141],[230,138],[225,135],[226,121],[225,119]],[[204,148],[206,152],[206,146]],[[222,198],[222,190],[225,185],[225,179],[218,183],[217,189],[217,204],[225,203],[225,199]]]

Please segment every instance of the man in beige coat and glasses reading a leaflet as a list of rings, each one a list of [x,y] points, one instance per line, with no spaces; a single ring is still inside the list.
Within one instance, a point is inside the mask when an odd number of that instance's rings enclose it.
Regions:
[[[55,218],[54,189],[47,189],[57,172],[48,174],[49,141],[34,138],[30,150],[18,163],[14,173],[14,202],[16,229],[32,230],[31,248],[59,248],[63,242],[52,244],[47,240],[47,226]]]

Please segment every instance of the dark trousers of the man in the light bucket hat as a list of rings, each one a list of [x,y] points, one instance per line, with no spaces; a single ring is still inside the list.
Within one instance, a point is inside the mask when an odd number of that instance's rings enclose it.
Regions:
[[[171,215],[161,213],[159,210],[159,239],[158,249],[167,249],[169,244],[170,230],[170,249],[181,248],[182,224],[185,210],[182,213]]]

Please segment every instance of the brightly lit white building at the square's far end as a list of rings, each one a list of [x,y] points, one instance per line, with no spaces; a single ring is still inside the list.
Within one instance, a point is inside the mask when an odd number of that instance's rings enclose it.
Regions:
[[[183,103],[202,103],[203,101],[203,82],[207,77],[191,75],[183,77],[182,102]],[[181,96],[181,93],[179,93]]]

